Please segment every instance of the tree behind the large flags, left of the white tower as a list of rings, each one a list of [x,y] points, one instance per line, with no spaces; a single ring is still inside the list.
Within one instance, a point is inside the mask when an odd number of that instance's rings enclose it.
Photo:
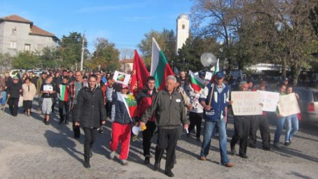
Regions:
[[[143,60],[148,67],[151,65],[152,38],[156,39],[168,62],[175,59],[175,34],[173,30],[163,29],[162,32],[158,32],[151,29],[138,44],[138,49],[141,51]]]

